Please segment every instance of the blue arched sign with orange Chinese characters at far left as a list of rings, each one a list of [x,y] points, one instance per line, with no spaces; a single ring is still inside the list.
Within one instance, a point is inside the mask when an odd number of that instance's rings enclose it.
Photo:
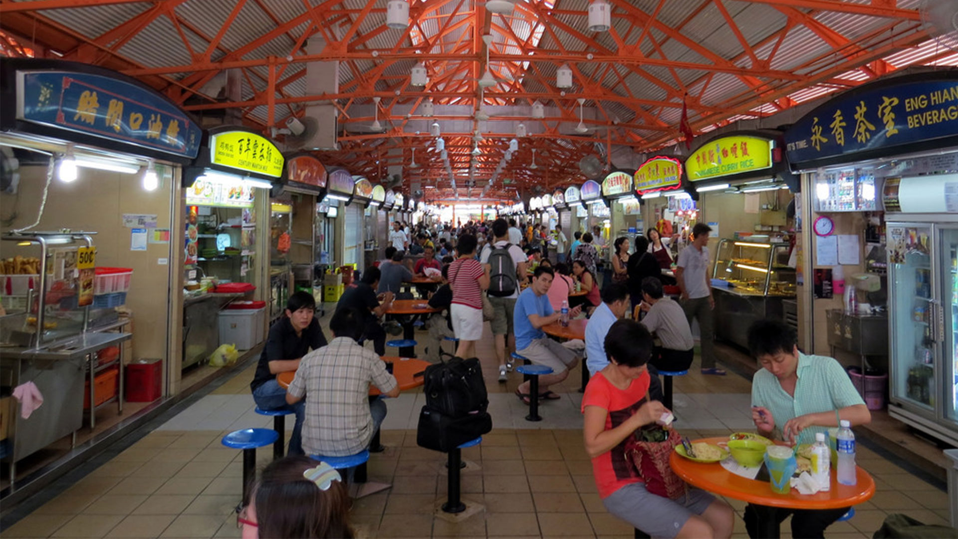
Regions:
[[[202,129],[130,82],[73,71],[17,73],[17,119],[194,159]]]

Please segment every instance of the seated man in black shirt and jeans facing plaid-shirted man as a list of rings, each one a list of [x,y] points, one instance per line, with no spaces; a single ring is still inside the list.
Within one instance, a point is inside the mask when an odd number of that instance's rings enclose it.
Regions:
[[[305,292],[294,293],[286,302],[285,316],[269,328],[269,337],[262,348],[260,363],[249,388],[253,400],[261,410],[292,410],[296,424],[289,438],[288,455],[303,455],[301,432],[303,429],[304,401],[286,404],[286,390],[276,382],[281,372],[296,370],[300,360],[309,350],[326,346],[326,336],[313,317],[316,300]]]

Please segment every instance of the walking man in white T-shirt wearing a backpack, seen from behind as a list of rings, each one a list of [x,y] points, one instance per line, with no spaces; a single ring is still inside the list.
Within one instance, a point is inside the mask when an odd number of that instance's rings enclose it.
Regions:
[[[490,277],[487,292],[489,293],[489,302],[495,312],[490,326],[492,336],[495,338],[495,358],[499,361],[499,382],[506,382],[508,378],[506,375],[508,370],[506,365],[506,358],[508,357],[506,354],[506,339],[508,337],[512,340],[511,346],[514,350],[513,313],[515,311],[515,300],[519,297],[519,283],[522,282],[520,279],[526,278],[526,255],[523,254],[521,247],[509,240],[509,231],[510,228],[505,219],[499,218],[492,222],[492,235],[495,236],[495,241],[492,246],[485,246],[482,249],[482,255],[479,258],[479,262],[486,269],[486,275]],[[512,267],[492,268],[490,265],[492,248],[505,248],[506,246],[509,246]],[[514,274],[511,273],[513,269],[515,270]],[[508,290],[513,292],[506,293]]]

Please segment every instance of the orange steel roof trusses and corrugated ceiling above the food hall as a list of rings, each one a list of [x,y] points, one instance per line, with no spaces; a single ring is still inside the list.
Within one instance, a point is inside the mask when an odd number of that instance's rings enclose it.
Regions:
[[[603,33],[587,30],[585,0],[516,0],[508,15],[487,11],[483,1],[413,0],[404,30],[386,27],[385,0],[4,0],[0,28],[37,56],[56,51],[122,71],[197,115],[239,109],[245,124],[266,135],[289,116],[302,116],[308,104],[334,103],[340,149],[316,152],[324,162],[384,181],[390,166],[403,165],[404,187],[435,185],[427,194],[437,199],[478,196],[518,122],[529,134],[487,198],[581,182],[576,163],[586,155],[608,163],[613,149],[652,152],[680,141],[683,103],[696,133],[729,118],[761,117],[797,105],[789,95],[804,88],[842,89],[883,75],[893,67],[882,58],[929,36],[918,0],[608,1],[612,24]],[[104,30],[96,23],[107,14],[122,22]],[[326,41],[321,54],[306,52],[313,35]],[[799,54],[804,45],[796,35],[817,46],[810,47],[813,54]],[[157,59],[133,46],[146,37],[162,39],[162,50],[171,54]],[[305,87],[304,67],[315,60],[340,61],[337,94]],[[427,69],[425,86],[410,85],[416,62]],[[562,64],[573,72],[565,89],[555,75]],[[240,101],[202,93],[233,68],[242,74]],[[496,83],[483,90],[477,80],[487,68]],[[864,76],[840,77],[850,71]],[[351,127],[373,122],[374,97],[385,130],[354,132]],[[426,99],[436,105],[436,118],[419,115]],[[582,118],[590,128],[583,134],[572,129],[580,122],[579,99],[590,111]],[[530,116],[535,101],[546,105],[546,117]],[[479,121],[461,107],[458,115],[442,114],[443,105],[468,105],[473,112],[480,105],[517,106]],[[442,133],[455,191],[435,137],[409,129],[422,120],[470,127]],[[476,146],[481,153],[473,159]],[[408,168],[413,149],[416,169]],[[533,149],[535,170],[528,167]]]

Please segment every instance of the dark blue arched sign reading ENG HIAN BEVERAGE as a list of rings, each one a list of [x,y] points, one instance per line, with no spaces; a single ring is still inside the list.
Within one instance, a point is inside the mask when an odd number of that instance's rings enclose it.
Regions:
[[[942,75],[947,73],[875,82],[816,107],[785,133],[789,163],[800,168],[895,155],[955,137],[958,77]]]

